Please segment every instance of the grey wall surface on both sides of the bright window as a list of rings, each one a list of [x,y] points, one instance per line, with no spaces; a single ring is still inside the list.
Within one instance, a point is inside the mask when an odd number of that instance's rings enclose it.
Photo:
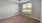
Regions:
[[[40,5],[40,3],[41,3],[41,1],[40,0],[31,0],[31,2],[32,2],[32,14],[31,15],[29,15],[28,14],[28,16],[32,16],[32,17],[34,17],[34,18],[38,18],[38,19],[40,19],[40,14],[41,14],[41,5]],[[22,12],[22,4],[20,4],[19,5],[19,13],[21,13],[21,14],[24,14],[23,12]]]

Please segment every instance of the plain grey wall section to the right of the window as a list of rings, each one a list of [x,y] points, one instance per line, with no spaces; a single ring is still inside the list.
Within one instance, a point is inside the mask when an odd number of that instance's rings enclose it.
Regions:
[[[40,16],[41,16],[41,0],[32,0],[32,16],[40,19]]]

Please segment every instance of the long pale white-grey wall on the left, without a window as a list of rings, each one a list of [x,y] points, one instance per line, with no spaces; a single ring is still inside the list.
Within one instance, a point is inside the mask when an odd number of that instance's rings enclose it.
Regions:
[[[0,19],[18,13],[18,4],[0,0]]]

